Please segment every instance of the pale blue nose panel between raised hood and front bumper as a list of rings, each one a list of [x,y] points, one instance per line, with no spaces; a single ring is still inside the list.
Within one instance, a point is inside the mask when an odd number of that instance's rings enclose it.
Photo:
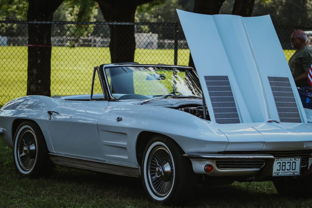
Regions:
[[[228,139],[225,151],[312,149],[311,123],[241,123],[212,125]]]

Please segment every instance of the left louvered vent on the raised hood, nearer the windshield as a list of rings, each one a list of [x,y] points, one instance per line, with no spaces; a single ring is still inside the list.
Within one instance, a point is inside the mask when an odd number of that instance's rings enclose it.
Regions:
[[[227,76],[204,76],[216,123],[240,123]]]

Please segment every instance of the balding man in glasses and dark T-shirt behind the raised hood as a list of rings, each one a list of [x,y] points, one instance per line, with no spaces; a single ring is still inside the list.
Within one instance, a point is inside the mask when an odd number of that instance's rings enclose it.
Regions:
[[[308,74],[312,64],[312,49],[307,46],[305,31],[296,30],[291,34],[290,43],[296,49],[288,65],[297,87],[310,86]]]

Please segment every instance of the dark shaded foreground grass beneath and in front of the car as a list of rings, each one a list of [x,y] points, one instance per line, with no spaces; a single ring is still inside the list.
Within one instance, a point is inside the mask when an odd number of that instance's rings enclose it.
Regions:
[[[295,191],[295,190],[294,190]],[[181,207],[311,207],[311,199],[278,195],[272,182],[200,186]],[[18,176],[0,138],[1,207],[163,207],[144,195],[140,179],[59,167],[49,178]]]

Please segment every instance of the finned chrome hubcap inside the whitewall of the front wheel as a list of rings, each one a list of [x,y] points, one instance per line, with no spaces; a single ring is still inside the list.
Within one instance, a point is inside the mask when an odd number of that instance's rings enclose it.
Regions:
[[[149,182],[158,196],[165,196],[173,185],[174,168],[172,158],[166,148],[156,147],[148,161]]]

